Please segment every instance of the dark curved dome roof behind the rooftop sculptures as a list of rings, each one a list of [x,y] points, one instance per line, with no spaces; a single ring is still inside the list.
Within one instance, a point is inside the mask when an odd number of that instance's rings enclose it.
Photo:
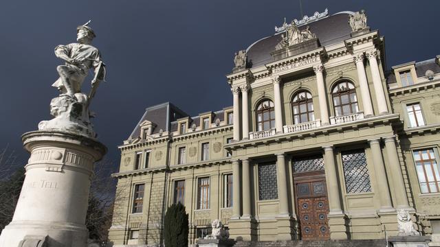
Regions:
[[[331,16],[327,16],[318,21],[306,23],[298,27],[300,30],[305,30],[307,26],[310,27],[310,31],[318,37],[322,47],[326,45],[331,45],[334,43],[339,43],[347,38],[350,38],[351,27],[349,25],[350,15],[353,12],[339,12]],[[262,38],[256,41],[248,49],[246,49],[246,54],[248,56],[248,67],[259,67],[261,65],[272,62],[272,56],[270,53],[275,51],[275,46],[281,41],[280,32]]]

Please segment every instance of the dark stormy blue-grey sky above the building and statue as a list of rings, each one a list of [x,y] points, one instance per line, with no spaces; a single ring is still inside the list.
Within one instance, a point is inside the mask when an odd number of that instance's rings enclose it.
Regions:
[[[298,0],[6,1],[0,3],[0,149],[10,145],[25,164],[21,134],[50,119],[57,91],[58,44],[74,42],[76,26],[92,19],[107,64],[91,104],[107,158],[147,106],[173,102],[190,115],[232,104],[225,80],[234,51],[274,34],[274,26],[300,19]],[[386,37],[388,67],[440,54],[440,1],[303,0],[304,14],[365,9],[372,30]],[[89,82],[83,90],[89,91]]]

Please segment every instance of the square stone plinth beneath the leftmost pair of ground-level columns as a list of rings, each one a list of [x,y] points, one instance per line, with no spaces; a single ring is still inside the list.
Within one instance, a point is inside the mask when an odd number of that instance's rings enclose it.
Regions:
[[[257,223],[252,217],[249,219],[233,220],[228,222],[229,237],[237,241],[256,241]]]

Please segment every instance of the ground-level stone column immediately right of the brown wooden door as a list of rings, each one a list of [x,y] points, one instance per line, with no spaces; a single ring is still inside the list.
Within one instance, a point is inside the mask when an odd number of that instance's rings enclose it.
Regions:
[[[336,172],[335,154],[333,147],[324,147],[325,151],[325,175],[327,181],[327,193],[329,196],[330,213],[341,213],[341,197],[339,190],[338,174]]]

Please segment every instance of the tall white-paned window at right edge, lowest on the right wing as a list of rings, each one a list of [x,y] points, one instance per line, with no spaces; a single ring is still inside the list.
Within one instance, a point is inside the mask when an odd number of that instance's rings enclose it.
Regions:
[[[435,158],[434,150],[432,148],[414,150],[412,155],[414,156],[417,176],[419,177],[421,193],[439,192],[439,165]]]

